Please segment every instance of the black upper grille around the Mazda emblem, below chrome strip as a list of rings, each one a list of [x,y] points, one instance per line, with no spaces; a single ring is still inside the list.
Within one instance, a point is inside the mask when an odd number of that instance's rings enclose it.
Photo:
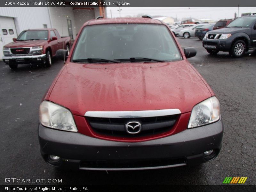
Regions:
[[[142,137],[170,131],[179,115],[142,117],[142,118],[100,118],[86,117],[93,131],[106,136]],[[127,133],[125,124],[136,121],[141,124],[141,132]]]

